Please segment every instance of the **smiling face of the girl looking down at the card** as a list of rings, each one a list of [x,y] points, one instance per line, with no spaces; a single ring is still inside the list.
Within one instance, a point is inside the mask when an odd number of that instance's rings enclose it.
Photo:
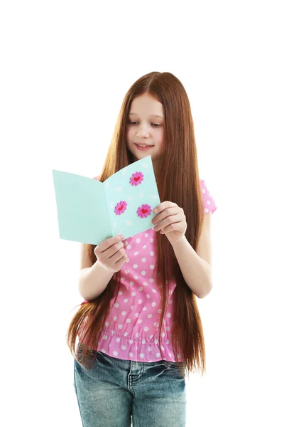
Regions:
[[[153,96],[139,95],[131,102],[127,124],[127,148],[134,161],[151,155],[153,164],[157,162],[164,149],[163,105]],[[139,149],[138,144],[147,148]]]

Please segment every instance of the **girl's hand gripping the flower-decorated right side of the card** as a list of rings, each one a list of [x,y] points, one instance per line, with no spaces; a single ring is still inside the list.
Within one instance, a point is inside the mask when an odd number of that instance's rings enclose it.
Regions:
[[[153,229],[165,234],[170,243],[176,243],[185,236],[187,223],[183,209],[172,201],[163,201],[154,209],[152,223],[158,224]]]

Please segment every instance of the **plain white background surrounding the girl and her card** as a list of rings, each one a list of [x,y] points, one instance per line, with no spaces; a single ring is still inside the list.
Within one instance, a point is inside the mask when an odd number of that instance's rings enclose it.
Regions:
[[[82,425],[65,343],[80,243],[59,238],[52,169],[99,174],[126,91],[157,70],[187,90],[218,206],[187,426],[283,426],[280,4],[1,2],[2,426]]]

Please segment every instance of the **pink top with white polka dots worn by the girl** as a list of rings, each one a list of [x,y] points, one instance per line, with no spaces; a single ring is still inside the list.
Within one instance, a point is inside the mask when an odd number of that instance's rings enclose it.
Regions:
[[[203,179],[200,179],[204,214],[214,213],[217,206]],[[119,295],[109,312],[97,350],[118,359],[136,362],[177,362],[170,339],[175,304],[175,280],[169,283],[168,307],[158,346],[160,320],[160,289],[153,268],[157,249],[156,232],[150,228],[124,242],[126,263],[121,268]],[[115,275],[114,275],[115,278]],[[87,302],[84,300],[82,303]],[[180,354],[178,361],[180,362]]]

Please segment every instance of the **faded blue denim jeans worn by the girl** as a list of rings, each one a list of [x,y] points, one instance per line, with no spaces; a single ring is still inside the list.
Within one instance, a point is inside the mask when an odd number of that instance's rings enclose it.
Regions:
[[[97,352],[93,367],[74,358],[83,427],[185,427],[185,378],[175,362],[133,362]],[[92,357],[89,350],[87,357]],[[132,418],[131,418],[132,417]]]

